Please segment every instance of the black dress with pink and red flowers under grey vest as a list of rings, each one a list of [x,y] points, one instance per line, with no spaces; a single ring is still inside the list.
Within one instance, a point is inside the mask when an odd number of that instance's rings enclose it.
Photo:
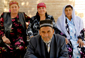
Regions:
[[[29,20],[29,17],[25,16],[26,21]],[[4,35],[4,18],[3,14],[1,15],[0,19],[0,58],[15,58],[20,57],[21,53],[24,53],[25,50],[25,42],[26,39],[24,38],[24,28],[19,21],[19,15],[17,17],[12,18],[12,27],[9,33],[9,40],[11,44],[6,44],[2,40],[2,36]],[[5,56],[4,56],[5,55]],[[9,56],[10,55],[10,56]]]

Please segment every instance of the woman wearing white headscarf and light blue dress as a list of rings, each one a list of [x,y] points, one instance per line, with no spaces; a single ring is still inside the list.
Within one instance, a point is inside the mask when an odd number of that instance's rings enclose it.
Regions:
[[[66,37],[66,44],[71,41],[73,46],[73,58],[80,58],[77,46],[83,46],[83,21],[80,17],[75,15],[73,6],[66,5],[63,8],[62,15],[56,22],[57,28]]]

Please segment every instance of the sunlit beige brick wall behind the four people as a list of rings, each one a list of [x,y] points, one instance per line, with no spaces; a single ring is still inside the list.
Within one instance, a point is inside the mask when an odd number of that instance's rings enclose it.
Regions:
[[[1,0],[0,3],[0,14],[3,11],[9,11],[9,3],[10,0]],[[28,16],[32,17],[37,12],[37,4],[40,2],[44,2],[47,6],[47,13],[52,15],[57,21],[57,18],[62,14],[62,9],[65,5],[71,4],[75,7],[76,15],[83,18],[85,22],[85,0],[13,0],[17,1],[20,6],[21,12],[25,12]],[[82,7],[83,6],[83,7]],[[83,12],[82,12],[83,11]]]

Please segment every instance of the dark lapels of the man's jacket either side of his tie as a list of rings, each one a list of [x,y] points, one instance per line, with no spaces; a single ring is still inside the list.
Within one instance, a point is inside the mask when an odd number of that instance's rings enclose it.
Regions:
[[[42,38],[40,37],[40,51],[41,51],[41,55],[42,55],[42,57],[46,57],[46,54],[45,54],[45,43],[43,42],[43,40],[42,40]],[[52,41],[51,41],[51,43],[50,43],[50,57],[51,56],[53,56],[54,58],[56,57],[56,46],[55,46],[55,44],[56,44],[56,40],[55,40],[55,38],[54,38],[54,35],[53,35],[53,37],[52,37]],[[54,53],[55,52],[55,53]]]

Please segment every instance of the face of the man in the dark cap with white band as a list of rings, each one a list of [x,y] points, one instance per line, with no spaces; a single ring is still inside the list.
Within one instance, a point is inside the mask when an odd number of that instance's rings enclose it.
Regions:
[[[47,27],[41,27],[40,30],[39,30],[39,33],[42,37],[42,40],[45,42],[45,43],[49,43],[53,37],[53,34],[54,34],[54,29],[47,26]]]

